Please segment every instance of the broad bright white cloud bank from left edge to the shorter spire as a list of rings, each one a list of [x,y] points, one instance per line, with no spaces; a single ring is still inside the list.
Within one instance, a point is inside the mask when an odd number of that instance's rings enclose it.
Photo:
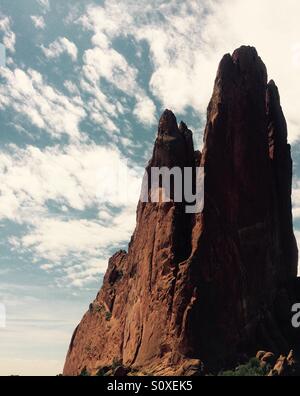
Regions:
[[[0,153],[0,169],[0,218],[20,223],[30,222],[49,200],[79,211],[135,205],[142,176],[118,150],[94,144],[11,146]]]

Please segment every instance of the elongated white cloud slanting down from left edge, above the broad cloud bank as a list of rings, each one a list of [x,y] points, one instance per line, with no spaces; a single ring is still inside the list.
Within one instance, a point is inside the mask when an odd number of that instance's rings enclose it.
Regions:
[[[0,69],[5,83],[0,84],[0,109],[11,107],[34,126],[54,137],[80,137],[79,123],[85,117],[79,96],[69,98],[47,85],[35,70]]]

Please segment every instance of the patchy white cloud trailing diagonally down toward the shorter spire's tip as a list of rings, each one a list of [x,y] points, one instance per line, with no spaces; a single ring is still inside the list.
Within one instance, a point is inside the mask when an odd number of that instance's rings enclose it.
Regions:
[[[128,60],[113,48],[111,42],[113,37],[122,35],[123,24],[133,23],[126,4],[113,6],[112,9],[89,6],[87,13],[79,21],[85,29],[92,30],[94,33],[92,37],[94,47],[84,53],[81,81],[82,88],[93,94],[93,105],[97,110],[103,109],[104,112],[111,112],[108,107],[112,106],[114,113],[117,114],[123,114],[127,110],[121,103],[108,104],[107,97],[103,96],[100,89],[101,80],[105,79],[125,95],[135,99],[133,114],[141,124],[146,126],[154,124],[156,107],[137,82],[138,69],[133,64],[129,64]],[[96,113],[97,111],[94,112]],[[94,120],[98,123],[102,122],[97,117]]]

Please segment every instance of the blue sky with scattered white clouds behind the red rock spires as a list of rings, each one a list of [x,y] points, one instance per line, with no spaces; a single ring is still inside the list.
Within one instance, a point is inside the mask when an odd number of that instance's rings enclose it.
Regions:
[[[138,4],[137,4],[138,3]],[[217,65],[256,46],[279,86],[300,236],[297,0],[1,0],[0,374],[57,374],[109,256],[126,248],[156,124],[201,148]]]

